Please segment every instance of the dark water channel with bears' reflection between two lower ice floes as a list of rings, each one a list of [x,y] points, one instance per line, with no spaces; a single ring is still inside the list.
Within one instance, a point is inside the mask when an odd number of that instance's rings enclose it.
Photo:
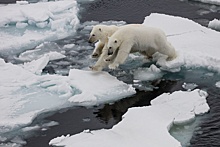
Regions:
[[[71,110],[60,111],[52,116],[46,117],[43,121],[58,122],[59,125],[52,126],[44,131],[38,130],[35,136],[28,138],[26,147],[47,146],[48,142],[61,135],[77,134],[83,130],[110,129],[122,120],[128,108],[148,106],[150,101],[164,92],[182,89],[182,82],[172,80],[160,80],[154,86],[160,87],[153,92],[138,91],[136,95],[122,99],[113,104],[104,104],[94,108],[77,107]],[[37,117],[31,126],[42,121],[45,114]],[[50,114],[51,115],[51,114]]]

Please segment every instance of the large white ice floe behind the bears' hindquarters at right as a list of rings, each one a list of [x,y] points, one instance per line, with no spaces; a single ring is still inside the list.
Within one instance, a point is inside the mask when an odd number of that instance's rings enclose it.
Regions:
[[[158,21],[163,23],[158,23]],[[157,59],[162,70],[178,71],[181,67],[206,67],[220,72],[220,33],[201,26],[192,20],[152,13],[144,25],[161,28],[178,56],[172,61]]]

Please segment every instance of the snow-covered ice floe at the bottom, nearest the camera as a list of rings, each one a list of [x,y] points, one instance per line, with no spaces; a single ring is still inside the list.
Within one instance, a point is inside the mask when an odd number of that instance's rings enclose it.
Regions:
[[[54,138],[49,144],[65,147],[180,147],[180,142],[169,134],[170,127],[191,122],[196,115],[208,112],[206,97],[207,93],[199,89],[164,93],[152,100],[151,106],[130,108],[123,120],[110,130],[85,130],[77,135]]]

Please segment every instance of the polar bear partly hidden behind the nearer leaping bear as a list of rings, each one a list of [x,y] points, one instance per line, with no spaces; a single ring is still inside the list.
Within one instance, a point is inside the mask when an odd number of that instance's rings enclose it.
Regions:
[[[142,24],[128,24],[125,26],[140,27],[143,25]],[[93,27],[90,33],[89,42],[95,43],[99,41],[92,53],[93,58],[99,57],[99,59],[96,62],[96,64],[91,67],[92,70],[100,71],[108,65],[108,63],[104,61],[104,59],[108,57],[108,48],[107,48],[108,38],[111,37],[112,34],[115,33],[121,27],[124,27],[124,26],[119,27],[115,25],[109,25],[109,26],[96,25]]]

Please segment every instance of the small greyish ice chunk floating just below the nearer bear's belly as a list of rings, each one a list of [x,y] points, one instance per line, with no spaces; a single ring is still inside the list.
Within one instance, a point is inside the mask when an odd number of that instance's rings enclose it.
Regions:
[[[141,81],[153,81],[163,76],[162,71],[152,64],[149,68],[139,68],[134,71],[134,79]]]

